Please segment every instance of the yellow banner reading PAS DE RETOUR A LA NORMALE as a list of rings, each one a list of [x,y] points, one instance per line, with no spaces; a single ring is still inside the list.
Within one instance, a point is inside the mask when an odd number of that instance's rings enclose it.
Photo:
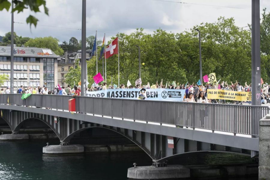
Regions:
[[[251,92],[207,89],[208,99],[224,99],[232,101],[251,101]]]

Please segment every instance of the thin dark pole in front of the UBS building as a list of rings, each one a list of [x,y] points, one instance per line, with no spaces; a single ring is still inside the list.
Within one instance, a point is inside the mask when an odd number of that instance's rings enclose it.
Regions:
[[[14,2],[11,5],[11,44],[10,44],[10,93],[14,93]],[[18,84],[17,84],[18,85]]]

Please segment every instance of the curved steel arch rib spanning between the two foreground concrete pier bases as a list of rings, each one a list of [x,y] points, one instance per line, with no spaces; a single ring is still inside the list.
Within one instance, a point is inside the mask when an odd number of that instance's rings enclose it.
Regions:
[[[92,126],[92,127],[85,127],[85,128],[81,128],[81,129],[79,129],[79,130],[77,130],[77,131],[74,131],[73,133],[71,133],[71,134],[69,134],[66,138],[64,138],[64,140],[63,141],[61,141],[61,142],[63,142],[63,143],[68,143],[68,141],[71,139],[71,138],[73,138],[76,134],[78,134],[78,133],[80,133],[80,132],[82,132],[82,131],[85,131],[85,130],[87,130],[87,129],[90,129],[90,128],[103,128],[103,129],[107,129],[107,130],[110,130],[110,131],[113,131],[113,132],[116,132],[116,133],[118,133],[118,134],[120,134],[120,135],[122,135],[122,136],[124,136],[124,137],[126,137],[126,138],[128,138],[129,140],[131,140],[134,144],[136,144],[137,146],[139,146],[151,159],[153,159],[153,157],[150,155],[150,151],[146,148],[146,147],[144,147],[144,146],[142,146],[142,144],[140,144],[139,142],[137,142],[137,141],[134,141],[130,136],[128,136],[128,135],[125,135],[125,134],[122,134],[121,132],[119,132],[119,131],[116,131],[116,130],[114,130],[114,129],[110,129],[110,128],[106,128],[106,127],[99,127],[99,126]]]

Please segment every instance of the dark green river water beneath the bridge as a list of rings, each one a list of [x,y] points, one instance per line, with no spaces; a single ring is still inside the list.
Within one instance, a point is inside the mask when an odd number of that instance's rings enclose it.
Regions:
[[[139,166],[149,166],[152,162],[144,152],[43,155],[42,147],[46,142],[0,141],[0,179],[127,180],[127,169],[133,167],[134,162]],[[59,144],[59,141],[49,143]],[[180,159],[183,165],[252,163],[248,156],[227,153],[193,153]]]

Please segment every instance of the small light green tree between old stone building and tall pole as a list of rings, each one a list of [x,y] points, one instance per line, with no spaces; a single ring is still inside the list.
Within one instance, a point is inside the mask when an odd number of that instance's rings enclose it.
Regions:
[[[75,68],[70,67],[65,75],[65,83],[69,85],[78,84],[81,81],[81,67],[79,66],[79,59],[75,60]]]

